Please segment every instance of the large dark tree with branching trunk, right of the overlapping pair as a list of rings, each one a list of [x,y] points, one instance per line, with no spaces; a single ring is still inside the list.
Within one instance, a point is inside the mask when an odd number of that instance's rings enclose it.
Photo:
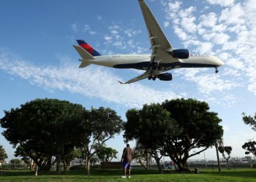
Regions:
[[[170,112],[180,133],[165,144],[165,153],[178,165],[179,170],[189,170],[187,159],[206,151],[222,138],[223,130],[217,113],[210,112],[206,102],[184,98],[166,100],[163,108]],[[198,151],[190,153],[193,149]]]

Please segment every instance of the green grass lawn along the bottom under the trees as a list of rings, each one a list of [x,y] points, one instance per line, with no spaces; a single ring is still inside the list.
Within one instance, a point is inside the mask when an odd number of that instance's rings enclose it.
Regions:
[[[256,181],[255,169],[201,170],[200,174],[173,173],[165,171],[158,174],[157,170],[132,170],[132,178],[121,178],[121,170],[92,170],[91,175],[85,175],[84,170],[61,172],[39,172],[34,175],[28,171],[3,171],[0,181]]]

